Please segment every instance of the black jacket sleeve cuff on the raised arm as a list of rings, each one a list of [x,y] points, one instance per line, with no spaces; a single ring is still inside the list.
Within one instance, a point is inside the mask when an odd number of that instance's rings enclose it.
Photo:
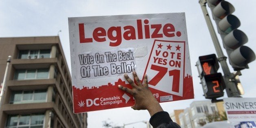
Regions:
[[[181,128],[181,126],[172,121],[170,115],[165,111],[152,115],[149,122],[153,128]]]

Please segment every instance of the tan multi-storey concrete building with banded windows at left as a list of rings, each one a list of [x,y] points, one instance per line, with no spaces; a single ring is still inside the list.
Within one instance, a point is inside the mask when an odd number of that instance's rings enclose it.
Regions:
[[[0,38],[0,81],[7,57],[0,128],[86,128],[73,114],[71,75],[59,36]]]

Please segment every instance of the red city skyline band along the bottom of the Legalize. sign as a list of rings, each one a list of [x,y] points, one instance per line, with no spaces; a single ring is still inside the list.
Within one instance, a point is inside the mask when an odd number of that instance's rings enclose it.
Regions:
[[[74,103],[74,112],[75,113],[83,113],[87,111],[94,111],[94,110],[104,110],[104,109],[111,109],[111,108],[121,108],[121,107],[128,107],[132,106],[135,103],[135,100],[133,99],[132,95],[129,93],[126,93],[122,90],[120,90],[117,86],[122,85],[127,88],[131,88],[130,84],[126,84],[125,81],[122,81],[120,78],[115,82],[115,84],[108,83],[106,85],[98,86],[95,87],[93,86],[92,88],[84,87],[82,89],[76,88],[73,86],[73,103]],[[176,86],[176,85],[174,85]],[[179,85],[177,85],[179,86]],[[193,81],[192,81],[192,76],[187,74],[185,78],[183,78],[183,97],[178,96],[178,95],[173,95],[170,93],[165,93],[160,90],[156,90],[154,88],[150,88],[151,92],[153,94],[158,93],[158,98],[157,101],[160,102],[160,97],[161,96],[169,96],[172,95],[173,101],[177,100],[183,100],[183,99],[192,99],[194,98],[194,89],[193,89]],[[186,91],[185,91],[186,90]],[[128,102],[126,103],[126,100],[122,97],[124,93],[130,97]],[[100,97],[97,97],[100,96]],[[110,97],[116,97],[116,99],[111,100],[112,102],[114,101],[119,101],[119,104],[106,104],[106,105],[101,105],[105,101],[101,101],[101,98],[110,98]],[[119,97],[119,99],[118,99]],[[92,106],[87,107],[86,106],[86,99],[92,99],[92,101],[95,98],[99,98],[98,100],[95,100],[95,104],[99,104],[98,106],[95,106],[93,104]],[[110,102],[110,101],[107,101]],[[79,106],[79,104],[82,106]],[[89,102],[90,103],[90,102]]]

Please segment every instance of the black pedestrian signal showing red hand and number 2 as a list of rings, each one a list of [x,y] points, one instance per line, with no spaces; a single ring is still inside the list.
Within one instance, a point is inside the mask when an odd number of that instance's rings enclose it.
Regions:
[[[217,73],[219,64],[215,54],[200,56],[196,66],[206,99],[223,97],[226,88],[223,76]]]

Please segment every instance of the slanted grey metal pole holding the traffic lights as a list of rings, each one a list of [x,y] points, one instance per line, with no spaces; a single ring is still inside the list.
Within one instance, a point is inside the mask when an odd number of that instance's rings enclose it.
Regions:
[[[221,45],[218,42],[217,35],[215,33],[214,27],[212,26],[212,22],[209,17],[209,13],[206,9],[206,3],[207,3],[206,0],[199,0],[199,4],[201,5],[201,9],[203,11],[205,21],[206,21],[208,29],[210,31],[216,53],[218,55],[218,61],[220,62],[221,68],[224,73],[224,81],[226,84],[227,97],[240,97],[238,89],[236,87],[236,83],[234,82],[235,75],[233,73],[230,73],[230,69],[227,66],[227,62],[226,62],[227,57],[225,57],[225,55],[223,54]]]

